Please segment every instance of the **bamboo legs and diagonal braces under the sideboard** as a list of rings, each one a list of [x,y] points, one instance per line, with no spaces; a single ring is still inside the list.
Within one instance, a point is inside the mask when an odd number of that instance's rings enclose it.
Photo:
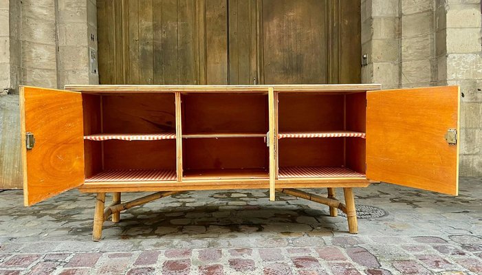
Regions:
[[[299,197],[302,199],[308,199],[309,201],[325,204],[329,206],[331,217],[336,217],[338,215],[337,210],[340,209],[342,212],[347,214],[349,232],[351,234],[357,234],[358,221],[356,217],[353,188],[343,188],[345,203],[342,203],[336,199],[335,188],[327,189],[328,197],[321,197],[319,195],[310,194],[309,192],[304,192],[294,188],[276,188],[276,191],[283,192],[293,197]],[[135,206],[142,206],[143,204],[155,201],[156,199],[162,199],[163,197],[175,195],[179,192],[182,191],[155,192],[151,195],[140,197],[139,199],[134,199],[124,203],[121,203],[120,192],[113,192],[112,203],[107,206],[107,208],[105,208],[105,192],[97,193],[92,241],[100,241],[100,239],[102,239],[102,225],[105,221],[107,221],[107,219],[109,219],[109,217],[112,217],[111,221],[113,223],[118,223],[120,221],[120,212]]]

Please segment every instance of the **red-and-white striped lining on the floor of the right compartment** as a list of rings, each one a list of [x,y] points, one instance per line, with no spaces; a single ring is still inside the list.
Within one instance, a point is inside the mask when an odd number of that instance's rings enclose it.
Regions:
[[[293,177],[365,177],[364,174],[344,167],[282,167],[278,178]]]

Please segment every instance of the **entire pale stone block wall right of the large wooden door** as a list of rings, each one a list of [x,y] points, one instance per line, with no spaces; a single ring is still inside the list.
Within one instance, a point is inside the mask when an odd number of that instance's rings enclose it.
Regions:
[[[460,175],[482,176],[480,0],[362,0],[363,83],[460,85]]]

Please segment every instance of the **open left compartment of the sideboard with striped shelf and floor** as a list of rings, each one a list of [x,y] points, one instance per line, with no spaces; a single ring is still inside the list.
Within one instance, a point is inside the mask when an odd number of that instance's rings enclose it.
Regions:
[[[175,94],[83,94],[86,181],[176,180]]]

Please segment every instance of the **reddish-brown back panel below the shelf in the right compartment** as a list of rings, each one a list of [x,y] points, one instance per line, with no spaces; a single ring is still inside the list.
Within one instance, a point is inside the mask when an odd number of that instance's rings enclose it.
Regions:
[[[283,138],[279,140],[279,166],[343,166],[343,139]]]

